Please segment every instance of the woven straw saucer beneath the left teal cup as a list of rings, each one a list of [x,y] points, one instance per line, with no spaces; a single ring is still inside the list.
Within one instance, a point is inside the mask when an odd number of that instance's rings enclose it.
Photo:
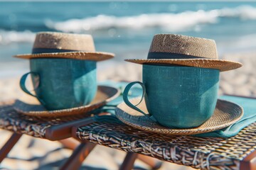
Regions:
[[[78,115],[87,113],[104,106],[107,102],[112,101],[119,96],[120,90],[110,86],[98,86],[97,94],[93,101],[86,106],[77,108],[68,108],[55,111],[46,111],[40,104],[30,104],[23,101],[16,100],[14,103],[14,110],[18,113],[40,117],[59,117],[66,115]]]

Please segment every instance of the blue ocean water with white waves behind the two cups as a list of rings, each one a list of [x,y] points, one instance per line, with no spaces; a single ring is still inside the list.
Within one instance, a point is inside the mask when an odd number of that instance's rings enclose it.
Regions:
[[[218,53],[256,49],[256,2],[0,2],[0,77],[28,70],[39,31],[92,34],[113,62],[146,58],[157,33],[214,39]],[[106,62],[110,64],[110,62]]]

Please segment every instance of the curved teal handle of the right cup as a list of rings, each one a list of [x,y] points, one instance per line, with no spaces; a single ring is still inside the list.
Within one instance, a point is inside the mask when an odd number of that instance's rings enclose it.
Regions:
[[[140,86],[142,86],[142,98],[137,105],[133,105],[128,99],[129,90],[132,88],[132,86],[134,86],[134,84],[139,84]],[[144,86],[144,84],[142,84],[142,82],[134,81],[132,83],[129,83],[125,87],[124,92],[123,92],[124,103],[126,103],[127,106],[129,106],[130,108],[133,108],[134,110],[139,111],[140,113],[144,114],[146,116],[146,118],[149,118],[149,119],[153,120],[154,122],[157,122],[156,119],[153,117],[153,115],[151,115],[150,113],[144,113],[144,111],[137,108],[137,106],[140,103],[142,103],[143,98],[145,98],[147,100],[146,87]]]

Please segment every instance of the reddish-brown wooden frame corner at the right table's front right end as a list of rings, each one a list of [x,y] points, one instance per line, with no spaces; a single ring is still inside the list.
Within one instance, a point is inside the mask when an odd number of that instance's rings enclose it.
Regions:
[[[240,162],[240,170],[256,170],[256,151],[249,154]]]

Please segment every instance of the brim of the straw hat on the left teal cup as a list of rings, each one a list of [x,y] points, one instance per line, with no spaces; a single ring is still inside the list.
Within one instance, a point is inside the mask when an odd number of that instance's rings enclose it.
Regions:
[[[114,57],[110,52],[52,52],[52,53],[39,53],[39,54],[26,54],[26,55],[14,55],[14,57],[23,59],[32,58],[69,58],[77,60],[94,60],[100,62],[102,60],[108,60]]]

